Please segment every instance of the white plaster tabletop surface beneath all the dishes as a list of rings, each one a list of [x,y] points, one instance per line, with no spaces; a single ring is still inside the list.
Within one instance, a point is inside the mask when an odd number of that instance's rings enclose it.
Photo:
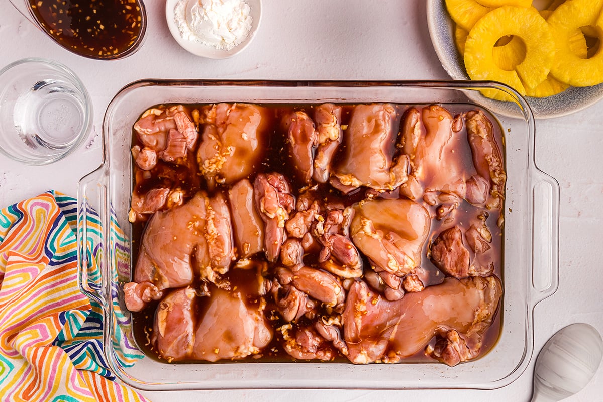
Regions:
[[[45,57],[72,68],[90,92],[93,130],[77,152],[44,167],[0,155],[0,206],[48,189],[75,196],[78,180],[101,163],[104,110],[121,87],[142,78],[286,80],[447,79],[435,55],[421,0],[264,0],[254,42],[226,60],[180,48],[165,21],[165,2],[147,0],[148,31],[136,54],[119,61],[78,57],[55,45],[7,0],[0,12],[0,66]],[[557,178],[560,197],[558,291],[534,309],[534,350],[572,322],[603,333],[603,101],[563,118],[537,121],[535,160]],[[151,401],[528,401],[535,356],[525,373],[493,391],[197,391],[145,392]],[[603,400],[603,368],[567,401]]]

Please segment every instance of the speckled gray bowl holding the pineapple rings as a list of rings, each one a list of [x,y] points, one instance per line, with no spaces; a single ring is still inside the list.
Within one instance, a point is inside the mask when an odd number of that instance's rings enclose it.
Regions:
[[[453,80],[469,80],[463,58],[454,43],[454,23],[446,11],[444,0],[427,0],[427,24],[429,35],[444,70]],[[525,99],[537,119],[557,118],[582,110],[603,98],[603,84],[592,87],[570,87],[564,92],[547,98]],[[493,110],[505,113],[505,109],[514,105],[508,102],[490,101]],[[488,102],[488,103],[490,103]]]

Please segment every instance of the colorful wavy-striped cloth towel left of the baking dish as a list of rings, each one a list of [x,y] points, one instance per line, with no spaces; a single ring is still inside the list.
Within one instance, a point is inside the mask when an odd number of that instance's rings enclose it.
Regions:
[[[75,199],[52,191],[0,210],[2,402],[145,400],[104,362],[101,306],[77,284],[76,226]]]

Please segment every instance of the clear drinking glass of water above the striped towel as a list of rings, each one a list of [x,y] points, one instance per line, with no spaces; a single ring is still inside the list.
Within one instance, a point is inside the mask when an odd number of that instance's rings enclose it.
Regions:
[[[92,104],[66,66],[25,58],[0,70],[0,151],[18,162],[46,165],[86,139]]]

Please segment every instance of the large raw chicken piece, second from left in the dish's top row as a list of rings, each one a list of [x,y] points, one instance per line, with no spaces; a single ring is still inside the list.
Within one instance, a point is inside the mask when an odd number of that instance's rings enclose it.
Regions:
[[[197,160],[209,186],[232,184],[255,172],[268,145],[269,111],[251,104],[220,103],[203,113]]]

